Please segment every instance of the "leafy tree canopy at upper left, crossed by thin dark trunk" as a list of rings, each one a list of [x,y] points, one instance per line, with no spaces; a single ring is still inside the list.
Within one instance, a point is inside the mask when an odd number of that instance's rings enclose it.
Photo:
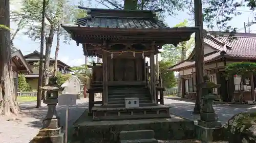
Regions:
[[[71,40],[68,34],[61,26],[61,23],[73,23],[74,19],[84,16],[84,11],[77,10],[77,7],[67,0],[46,0],[46,27],[45,35],[50,33],[51,27],[54,32],[59,28],[59,34],[63,37],[63,42],[67,43]],[[41,0],[23,0],[20,11],[13,11],[11,19],[14,22],[22,21],[20,28],[25,28],[25,35],[32,40],[40,39],[41,17],[42,17]]]

